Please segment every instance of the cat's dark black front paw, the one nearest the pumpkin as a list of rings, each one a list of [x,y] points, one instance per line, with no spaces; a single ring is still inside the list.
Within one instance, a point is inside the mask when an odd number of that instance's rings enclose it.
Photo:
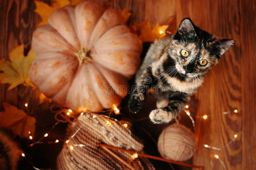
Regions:
[[[129,110],[132,113],[138,112],[143,104],[144,96],[143,94],[132,94],[128,103]]]

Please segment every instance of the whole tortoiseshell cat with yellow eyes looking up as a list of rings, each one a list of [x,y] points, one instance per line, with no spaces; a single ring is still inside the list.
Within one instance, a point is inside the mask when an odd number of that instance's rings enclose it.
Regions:
[[[130,111],[139,111],[148,89],[154,87],[158,109],[152,110],[149,117],[157,124],[170,122],[234,43],[232,39],[217,38],[205,32],[189,18],[184,18],[175,35],[156,40],[150,46],[136,74]]]

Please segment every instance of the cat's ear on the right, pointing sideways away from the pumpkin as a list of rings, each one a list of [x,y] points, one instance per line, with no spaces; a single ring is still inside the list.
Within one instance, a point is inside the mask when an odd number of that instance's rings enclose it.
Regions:
[[[217,39],[212,42],[212,52],[217,58],[220,58],[228,49],[235,44],[233,39]]]

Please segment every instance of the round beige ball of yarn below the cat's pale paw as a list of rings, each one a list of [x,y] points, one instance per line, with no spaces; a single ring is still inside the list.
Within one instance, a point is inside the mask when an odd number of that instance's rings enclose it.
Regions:
[[[184,125],[172,124],[164,128],[158,138],[157,146],[163,158],[185,161],[195,152],[195,135]]]

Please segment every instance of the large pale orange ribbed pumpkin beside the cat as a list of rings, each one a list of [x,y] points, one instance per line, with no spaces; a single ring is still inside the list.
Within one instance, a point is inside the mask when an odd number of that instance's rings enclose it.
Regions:
[[[55,10],[33,34],[30,79],[72,110],[100,111],[126,96],[140,65],[141,41],[120,13],[93,1]],[[124,90],[126,88],[126,90]]]

